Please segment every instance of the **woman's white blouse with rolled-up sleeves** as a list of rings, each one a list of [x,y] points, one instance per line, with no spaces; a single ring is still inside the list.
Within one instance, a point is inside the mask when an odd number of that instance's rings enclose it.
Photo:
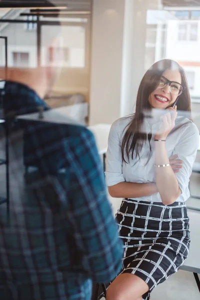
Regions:
[[[119,182],[155,182],[155,151],[154,140],[151,138],[150,145],[152,155],[148,163],[149,143],[143,144],[140,151],[140,160],[138,158],[129,158],[129,163],[122,162],[121,141],[126,130],[126,125],[130,122],[132,116],[117,119],[111,126],[108,137],[108,149],[106,155],[105,178],[107,186],[115,185]],[[143,123],[146,132],[150,132],[150,125],[147,121]],[[160,122],[152,125],[151,132],[157,132]],[[125,130],[124,130],[125,129]],[[184,202],[189,198],[189,177],[191,175],[192,165],[196,157],[196,151],[199,143],[199,131],[196,125],[183,116],[177,116],[174,129],[166,138],[166,148],[168,157],[177,154],[178,158],[183,160],[183,166],[178,173],[175,173],[181,190],[177,202]],[[125,156],[125,160],[127,157]],[[163,162],[165,163],[165,162]],[[134,198],[136,199],[136,198]],[[143,201],[161,202],[159,193],[151,196],[137,198]]]

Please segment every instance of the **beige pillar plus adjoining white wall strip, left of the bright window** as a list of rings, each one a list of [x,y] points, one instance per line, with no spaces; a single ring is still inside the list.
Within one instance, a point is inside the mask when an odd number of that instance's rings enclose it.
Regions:
[[[144,75],[146,12],[159,0],[93,0],[90,124],[134,112]]]

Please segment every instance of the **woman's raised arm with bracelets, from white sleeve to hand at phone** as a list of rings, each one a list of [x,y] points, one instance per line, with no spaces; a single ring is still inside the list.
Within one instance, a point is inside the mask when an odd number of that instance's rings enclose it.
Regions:
[[[171,113],[170,113],[171,112]],[[176,106],[171,108],[162,118],[162,125],[155,134],[155,164],[169,164],[165,139],[175,125],[177,115]],[[176,129],[178,130],[178,129]],[[192,165],[195,160],[199,141],[199,132],[197,127],[190,121],[183,124],[182,132],[176,145],[174,145],[173,154],[177,154],[183,160],[183,167],[180,172],[174,174],[171,166],[156,167],[155,178],[156,186],[160,194],[162,203],[167,205],[173,203],[188,186]],[[161,141],[159,141],[161,140]]]

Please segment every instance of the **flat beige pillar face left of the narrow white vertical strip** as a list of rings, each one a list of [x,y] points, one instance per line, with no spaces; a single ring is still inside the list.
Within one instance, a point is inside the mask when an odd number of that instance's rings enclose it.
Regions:
[[[90,124],[120,116],[125,0],[93,0]]]

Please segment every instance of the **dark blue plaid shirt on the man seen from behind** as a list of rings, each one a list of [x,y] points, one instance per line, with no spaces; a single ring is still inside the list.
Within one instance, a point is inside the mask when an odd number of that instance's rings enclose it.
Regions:
[[[5,112],[49,109],[27,86],[7,81]],[[0,157],[4,132],[0,130]],[[122,247],[102,163],[84,126],[16,122],[9,134],[10,221],[0,205],[0,300],[90,299],[109,282]],[[5,191],[0,167],[0,195]]]

